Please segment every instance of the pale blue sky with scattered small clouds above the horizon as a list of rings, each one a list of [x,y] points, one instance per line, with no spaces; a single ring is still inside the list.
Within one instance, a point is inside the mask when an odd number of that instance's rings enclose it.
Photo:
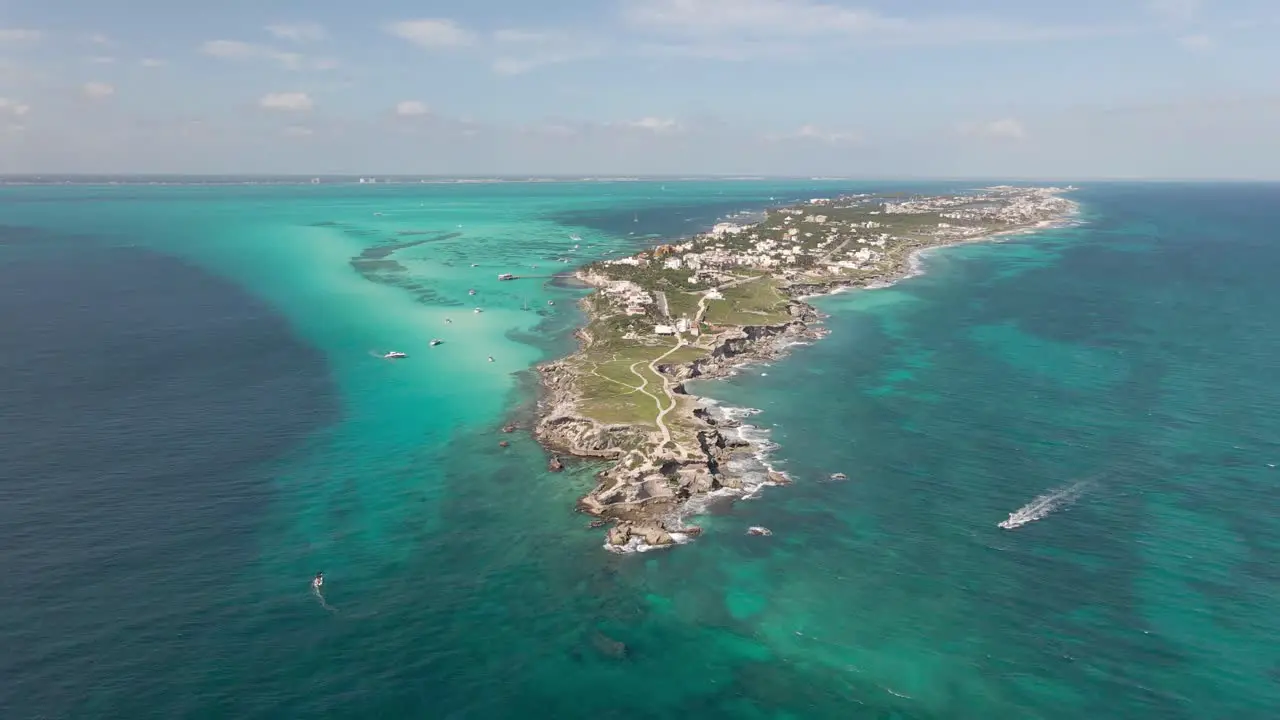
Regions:
[[[0,173],[1280,178],[1275,0],[0,0]]]

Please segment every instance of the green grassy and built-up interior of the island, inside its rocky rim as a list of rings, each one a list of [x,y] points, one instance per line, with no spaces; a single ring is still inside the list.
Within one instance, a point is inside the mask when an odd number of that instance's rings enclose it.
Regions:
[[[718,331],[790,322],[790,299],[782,290],[788,284],[883,279],[900,273],[916,249],[980,234],[964,228],[1005,229],[1012,220],[989,210],[1001,209],[1007,197],[902,193],[806,204],[771,210],[755,225],[641,252],[636,265],[593,264],[589,273],[634,287],[616,287],[612,295],[595,293],[586,301],[590,342],[571,359],[579,365],[581,411],[604,423],[644,424],[681,443],[689,441],[690,428],[678,427],[687,413],[667,413],[659,420],[660,409],[686,400],[667,393],[650,363],[663,357],[662,364],[687,364],[709,352]],[[884,214],[884,201],[910,202],[913,211]],[[1052,204],[1041,208],[1053,211]],[[966,210],[978,213],[969,219],[942,217]],[[678,259],[678,268],[666,266],[672,259]],[[704,300],[713,287],[723,299]],[[655,325],[695,318],[700,302],[701,336],[685,333],[677,341],[655,334]],[[676,348],[677,342],[685,345]]]

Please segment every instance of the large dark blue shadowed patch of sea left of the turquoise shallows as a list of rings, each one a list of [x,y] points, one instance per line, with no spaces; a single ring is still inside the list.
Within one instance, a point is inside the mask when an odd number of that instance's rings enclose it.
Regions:
[[[234,642],[260,469],[337,419],[323,356],[137,249],[0,259],[0,715],[119,716],[122,683],[195,697]]]

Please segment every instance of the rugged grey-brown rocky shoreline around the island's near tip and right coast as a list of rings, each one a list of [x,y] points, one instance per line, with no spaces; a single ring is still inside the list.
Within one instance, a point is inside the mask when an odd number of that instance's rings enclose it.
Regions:
[[[1027,232],[1032,227],[992,232],[963,242],[992,241],[997,236]],[[672,421],[694,428],[694,442],[662,442],[654,429],[631,424],[604,424],[579,409],[582,402],[575,382],[573,359],[582,354],[593,338],[579,329],[579,351],[568,357],[539,365],[543,393],[538,401],[535,438],[550,452],[582,459],[609,460],[613,465],[596,475],[596,486],[577,502],[580,512],[591,515],[591,527],[613,527],[607,532],[605,547],[618,552],[644,551],[686,542],[701,529],[685,524],[691,500],[712,493],[741,495],[746,488],[741,478],[726,471],[736,454],[758,452],[759,448],[732,433],[741,423],[717,418],[698,396],[689,395],[685,383],[691,379],[716,379],[733,374],[755,363],[777,360],[797,343],[819,340],[828,331],[819,327],[823,315],[804,299],[829,295],[851,288],[877,288],[916,274],[916,258],[925,250],[957,245],[955,240],[919,243],[896,258],[873,277],[831,278],[780,286],[786,296],[788,319],[777,324],[742,325],[721,332],[710,351],[696,360],[659,363],[655,365],[672,396],[684,401],[671,410]],[[599,278],[579,272],[582,282],[600,287]],[[590,318],[588,300],[582,309]],[[787,484],[783,473],[769,470],[767,484]]]

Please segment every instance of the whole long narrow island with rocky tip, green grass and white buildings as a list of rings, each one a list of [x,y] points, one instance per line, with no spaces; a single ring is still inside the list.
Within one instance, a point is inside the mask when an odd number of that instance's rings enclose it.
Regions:
[[[553,454],[612,462],[579,501],[605,547],[669,546],[698,534],[692,500],[741,491],[727,470],[753,451],[737,420],[686,382],[778,357],[824,334],[805,297],[883,287],[922,250],[1048,227],[1071,217],[1071,188],[997,186],[973,192],[815,197],[754,224],[721,223],[684,242],[582,266],[579,350],[538,368],[535,437]],[[558,464],[558,460],[556,460]],[[769,473],[772,484],[790,482]]]

